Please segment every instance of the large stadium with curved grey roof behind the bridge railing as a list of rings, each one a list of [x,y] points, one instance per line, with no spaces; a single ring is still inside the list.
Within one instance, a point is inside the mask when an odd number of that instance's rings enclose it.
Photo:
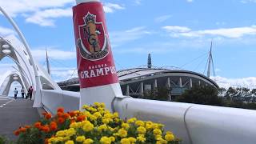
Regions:
[[[169,100],[181,95],[192,86],[214,86],[218,84],[203,74],[194,71],[182,70],[176,67],[158,68],[152,67],[150,54],[148,64],[144,67],[119,70],[118,78],[122,88],[122,94],[134,98],[143,98],[145,92],[166,87],[170,90]],[[58,82],[63,90],[79,91],[78,78]]]

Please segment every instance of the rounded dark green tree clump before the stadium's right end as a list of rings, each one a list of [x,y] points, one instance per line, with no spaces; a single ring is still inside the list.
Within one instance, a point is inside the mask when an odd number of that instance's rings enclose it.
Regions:
[[[188,102],[203,105],[222,106],[222,98],[213,86],[194,86],[175,99],[176,102]]]

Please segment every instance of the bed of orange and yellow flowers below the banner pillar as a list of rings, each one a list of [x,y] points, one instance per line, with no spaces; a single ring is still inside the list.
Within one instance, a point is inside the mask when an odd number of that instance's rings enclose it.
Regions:
[[[63,108],[58,108],[57,112],[54,117],[45,113],[34,126],[15,130],[18,143],[180,143],[170,131],[164,133],[162,124],[136,118],[122,120],[118,113],[111,114],[105,110],[103,103],[83,106],[83,111],[65,113]]]

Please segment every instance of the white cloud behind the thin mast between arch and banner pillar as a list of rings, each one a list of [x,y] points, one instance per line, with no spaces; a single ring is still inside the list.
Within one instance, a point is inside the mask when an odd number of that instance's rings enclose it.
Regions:
[[[48,55],[50,58],[58,59],[58,60],[66,60],[66,59],[74,59],[76,58],[75,51],[63,51],[54,48],[47,49]],[[45,49],[37,49],[31,51],[34,58],[38,60],[42,60],[46,58],[46,50]]]

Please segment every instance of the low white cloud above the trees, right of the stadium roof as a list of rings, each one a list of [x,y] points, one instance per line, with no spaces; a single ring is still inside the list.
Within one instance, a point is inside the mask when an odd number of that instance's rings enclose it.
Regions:
[[[248,87],[250,89],[256,88],[256,77],[248,78],[223,78],[220,76],[210,77],[214,82],[218,83],[218,86],[229,88],[233,87]]]

